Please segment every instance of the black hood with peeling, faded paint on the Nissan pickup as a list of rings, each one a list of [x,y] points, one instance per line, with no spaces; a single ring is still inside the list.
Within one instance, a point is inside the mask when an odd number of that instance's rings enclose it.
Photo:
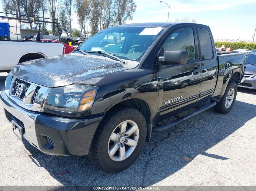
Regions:
[[[18,78],[52,88],[127,69],[129,68],[116,61],[106,60],[103,56],[101,59],[66,54],[20,63],[11,73]]]

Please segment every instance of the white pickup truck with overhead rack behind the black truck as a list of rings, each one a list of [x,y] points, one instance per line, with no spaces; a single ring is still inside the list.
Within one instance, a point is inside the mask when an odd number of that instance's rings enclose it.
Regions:
[[[2,12],[0,13],[2,15],[6,14],[3,14]],[[51,56],[58,56],[64,53],[63,43],[49,41],[42,42],[40,41],[40,38],[38,41],[20,40],[20,22],[17,21],[17,18],[10,18],[2,15],[0,15],[0,19],[2,18],[0,21],[9,23],[10,26],[9,30],[2,30],[10,32],[10,40],[0,40],[0,72],[9,72],[16,64],[21,62]]]

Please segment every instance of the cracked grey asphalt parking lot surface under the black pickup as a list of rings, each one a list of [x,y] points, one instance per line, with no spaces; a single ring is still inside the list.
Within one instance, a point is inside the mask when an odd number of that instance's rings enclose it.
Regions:
[[[1,90],[6,75],[0,73]],[[22,143],[1,110],[0,185],[255,185],[255,115],[256,91],[238,88],[230,113],[211,108],[152,133],[135,163],[111,174],[86,157],[55,157]]]

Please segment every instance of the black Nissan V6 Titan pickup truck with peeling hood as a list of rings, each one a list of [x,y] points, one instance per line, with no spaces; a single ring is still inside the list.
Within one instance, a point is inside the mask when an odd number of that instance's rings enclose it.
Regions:
[[[103,170],[119,172],[152,131],[210,107],[228,113],[246,59],[217,56],[205,25],[126,24],[96,33],[71,54],[16,65],[1,102],[21,140],[47,154],[89,155]],[[158,125],[170,116],[177,119]]]

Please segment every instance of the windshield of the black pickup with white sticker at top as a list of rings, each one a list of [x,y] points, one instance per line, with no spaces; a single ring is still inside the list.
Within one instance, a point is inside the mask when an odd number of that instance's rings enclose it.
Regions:
[[[78,48],[84,51],[114,54],[121,59],[140,61],[162,30],[154,27],[108,28],[96,33]]]

